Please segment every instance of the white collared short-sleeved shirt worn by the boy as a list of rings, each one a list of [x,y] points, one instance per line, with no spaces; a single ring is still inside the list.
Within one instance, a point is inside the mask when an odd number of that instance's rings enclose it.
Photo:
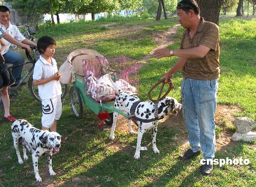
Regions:
[[[53,58],[51,58],[51,60],[52,64],[40,56],[39,60],[35,63],[33,73],[34,81],[40,81],[41,79],[51,77],[58,72],[56,61]],[[38,93],[41,99],[51,99],[53,97],[57,97],[62,93],[60,82],[52,80],[44,85],[38,85]]]

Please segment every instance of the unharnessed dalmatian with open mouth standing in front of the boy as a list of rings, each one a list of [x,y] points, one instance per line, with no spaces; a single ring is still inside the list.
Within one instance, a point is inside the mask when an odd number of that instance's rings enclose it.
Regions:
[[[20,157],[18,150],[18,144],[22,144],[24,160],[28,159],[26,150],[32,154],[35,179],[37,182],[42,181],[38,174],[38,158],[44,153],[47,153],[48,156],[49,173],[50,175],[55,175],[55,172],[52,169],[52,151],[59,151],[61,141],[61,136],[59,133],[49,132],[48,130],[40,130],[23,119],[15,121],[11,128],[18,163],[23,164],[23,160]]]

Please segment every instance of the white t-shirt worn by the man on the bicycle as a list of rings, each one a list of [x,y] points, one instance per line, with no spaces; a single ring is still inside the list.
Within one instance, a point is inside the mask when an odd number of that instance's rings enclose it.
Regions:
[[[26,38],[23,36],[22,33],[20,33],[19,29],[17,28],[17,26],[13,23],[9,21],[9,26],[6,29],[5,26],[0,22],[0,34],[4,34],[4,33],[8,33],[10,34],[13,38],[15,38],[16,40],[18,40],[19,42],[22,42],[23,40],[25,40]],[[5,40],[5,39],[4,39]],[[5,40],[6,45],[7,45],[7,49],[4,52],[4,54],[9,50],[11,43],[8,42],[7,40]]]

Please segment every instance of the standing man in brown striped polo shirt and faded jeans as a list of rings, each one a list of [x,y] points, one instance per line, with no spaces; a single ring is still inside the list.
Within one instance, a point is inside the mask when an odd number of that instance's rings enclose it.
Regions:
[[[215,157],[215,120],[217,90],[220,76],[219,28],[200,17],[200,9],[194,0],[182,0],[177,5],[177,15],[185,29],[178,50],[158,49],[154,57],[180,57],[163,76],[167,81],[182,68],[182,114],[188,130],[188,149],[182,159],[200,154],[207,163],[201,173],[211,173]]]

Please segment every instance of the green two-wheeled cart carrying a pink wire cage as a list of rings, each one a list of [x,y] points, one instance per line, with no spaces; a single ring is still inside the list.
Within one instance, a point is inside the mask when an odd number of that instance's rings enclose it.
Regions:
[[[84,53],[86,52],[77,56],[78,62],[76,59],[71,62],[75,81],[70,89],[70,102],[75,116],[81,118],[83,105],[86,105],[107,125],[113,123],[113,112],[129,118],[114,107],[117,93],[108,87],[106,79],[103,79],[101,83],[97,83],[97,81],[111,73],[113,81],[118,83],[122,90],[138,93],[139,65],[137,61],[125,56],[103,57],[93,50],[88,51],[89,54],[84,55]],[[74,64],[76,65],[74,66]],[[94,81],[96,79],[96,85],[89,82],[91,79]]]

